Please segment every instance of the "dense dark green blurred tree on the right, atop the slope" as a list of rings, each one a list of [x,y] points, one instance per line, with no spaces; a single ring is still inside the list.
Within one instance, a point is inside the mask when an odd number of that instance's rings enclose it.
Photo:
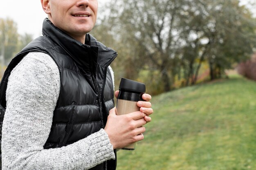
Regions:
[[[196,83],[202,61],[208,61],[211,79],[220,77],[252,53],[255,20],[238,0],[193,0],[182,15],[183,60],[188,61],[187,82]],[[239,41],[238,41],[239,39]],[[197,61],[195,64],[195,61]],[[189,84],[189,83],[187,83]]]

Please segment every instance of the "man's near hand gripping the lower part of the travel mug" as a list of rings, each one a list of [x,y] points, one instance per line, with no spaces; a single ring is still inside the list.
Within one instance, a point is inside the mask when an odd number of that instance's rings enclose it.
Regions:
[[[114,149],[124,148],[132,143],[144,139],[142,133],[146,131],[145,113],[140,111],[125,115],[116,115],[116,108],[109,111],[105,131]]]

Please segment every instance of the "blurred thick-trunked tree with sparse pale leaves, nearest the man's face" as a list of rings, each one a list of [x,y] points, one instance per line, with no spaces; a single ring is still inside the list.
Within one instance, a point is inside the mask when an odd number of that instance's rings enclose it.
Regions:
[[[121,28],[119,33],[122,39],[126,37],[126,44],[132,42],[136,45],[131,48],[135,55],[130,61],[143,63],[146,59],[147,68],[159,72],[164,91],[171,89],[177,72],[175,61],[182,43],[178,37],[177,21],[184,4],[184,0],[122,0],[113,5],[113,12],[117,12],[112,13],[113,16],[119,15],[115,31],[117,27]]]

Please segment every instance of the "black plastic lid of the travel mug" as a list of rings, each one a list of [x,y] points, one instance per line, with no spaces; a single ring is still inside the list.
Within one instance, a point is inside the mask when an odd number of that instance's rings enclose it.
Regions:
[[[135,92],[146,92],[146,85],[144,83],[139,83],[137,81],[129,80],[127,78],[121,78],[119,89],[126,89]]]

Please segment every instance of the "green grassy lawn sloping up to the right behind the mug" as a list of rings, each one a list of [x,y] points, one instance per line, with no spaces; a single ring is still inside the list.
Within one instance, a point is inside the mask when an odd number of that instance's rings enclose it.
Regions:
[[[256,82],[240,76],[151,100],[154,113],[117,170],[256,170]]]

